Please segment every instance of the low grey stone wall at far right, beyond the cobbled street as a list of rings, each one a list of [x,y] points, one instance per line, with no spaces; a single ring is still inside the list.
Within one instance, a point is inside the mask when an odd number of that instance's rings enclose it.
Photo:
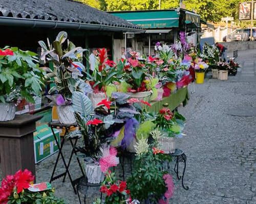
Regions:
[[[234,50],[256,49],[256,41],[221,42],[221,44],[227,47],[228,53]]]

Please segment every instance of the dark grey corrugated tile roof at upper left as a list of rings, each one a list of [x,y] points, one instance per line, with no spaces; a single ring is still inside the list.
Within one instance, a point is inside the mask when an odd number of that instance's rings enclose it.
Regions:
[[[0,0],[1,16],[141,29],[119,17],[71,0]]]

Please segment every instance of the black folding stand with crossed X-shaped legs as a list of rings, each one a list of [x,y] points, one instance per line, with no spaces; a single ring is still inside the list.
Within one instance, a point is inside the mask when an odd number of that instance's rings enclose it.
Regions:
[[[58,139],[57,139],[57,137],[56,137],[56,135],[55,135],[53,129],[54,129],[54,128],[59,128],[59,129],[65,128],[65,130],[66,130],[66,131],[65,131],[65,135],[66,135],[66,134],[68,133],[68,131],[69,131],[72,127],[77,126],[77,124],[75,124],[75,123],[74,123],[74,124],[61,124],[61,123],[59,123],[59,122],[50,122],[50,123],[49,123],[49,126],[51,127],[51,130],[52,130],[52,133],[53,133],[55,142],[56,142],[56,144],[57,144],[57,146],[58,146],[58,149],[59,149],[58,156],[57,156],[57,159],[56,159],[56,161],[55,161],[54,168],[53,168],[53,172],[52,172],[52,175],[51,175],[50,183],[51,183],[52,181],[56,180],[56,179],[59,179],[59,178],[62,177],[62,176],[64,176],[62,182],[65,182],[66,176],[67,176],[67,174],[68,174],[69,180],[70,180],[71,185],[72,185],[72,187],[73,187],[73,190],[74,190],[74,192],[75,192],[75,194],[76,194],[77,191],[76,191],[75,185],[79,182],[79,180],[81,179],[81,177],[83,177],[83,176],[85,176],[85,175],[84,175],[84,173],[83,173],[82,165],[81,165],[81,163],[80,163],[78,157],[76,157],[76,160],[77,160],[78,165],[79,165],[79,167],[80,167],[80,170],[81,170],[81,172],[82,172],[82,176],[79,177],[79,178],[76,179],[76,180],[72,180],[71,174],[70,174],[70,172],[69,172],[69,166],[70,166],[71,160],[72,160],[72,158],[73,158],[73,155],[75,154],[75,156],[76,156],[77,151],[75,150],[75,146],[76,146],[76,143],[77,143],[77,141],[78,141],[78,139],[79,139],[80,137],[73,137],[73,138],[68,138],[68,139],[67,139],[68,141],[70,141],[71,146],[72,146],[71,156],[70,156],[70,158],[69,158],[69,162],[68,162],[68,165],[67,165],[67,163],[66,163],[66,161],[65,161],[65,157],[64,157],[63,154],[62,154],[62,147],[63,147],[63,145],[64,145],[64,143],[65,143],[66,138],[65,138],[65,136],[64,136],[63,139],[62,139],[62,141],[61,141],[60,144],[59,144]],[[73,142],[72,140],[74,140],[74,142]],[[61,173],[61,174],[59,174],[59,175],[54,176],[54,173],[55,173],[57,164],[58,164],[58,162],[59,162],[59,156],[61,157],[61,160],[62,160],[62,162],[63,162],[63,164],[64,164],[64,166],[65,166],[66,171],[63,172],[63,173]]]

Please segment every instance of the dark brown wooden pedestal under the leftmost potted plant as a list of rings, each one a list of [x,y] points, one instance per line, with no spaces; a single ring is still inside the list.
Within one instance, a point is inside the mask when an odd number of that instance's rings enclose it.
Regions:
[[[37,115],[16,115],[14,120],[0,122],[0,157],[3,177],[19,169],[35,175],[33,132]]]

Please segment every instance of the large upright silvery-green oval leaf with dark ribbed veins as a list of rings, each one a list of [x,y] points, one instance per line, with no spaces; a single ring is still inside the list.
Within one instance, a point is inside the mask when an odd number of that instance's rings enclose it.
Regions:
[[[80,113],[82,117],[86,117],[93,112],[91,100],[79,91],[75,91],[72,95],[72,107],[74,111]]]

